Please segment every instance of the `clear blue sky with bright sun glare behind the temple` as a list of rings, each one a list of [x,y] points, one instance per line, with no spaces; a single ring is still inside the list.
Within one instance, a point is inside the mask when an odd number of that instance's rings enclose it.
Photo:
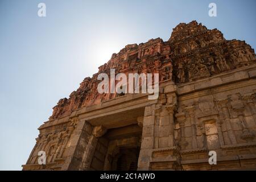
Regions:
[[[40,2],[46,3],[45,18],[37,14]],[[217,4],[217,17],[208,15],[210,2]],[[21,169],[52,107],[112,53],[151,38],[166,41],[172,28],[191,20],[256,48],[255,5],[254,0],[0,0],[0,169]]]

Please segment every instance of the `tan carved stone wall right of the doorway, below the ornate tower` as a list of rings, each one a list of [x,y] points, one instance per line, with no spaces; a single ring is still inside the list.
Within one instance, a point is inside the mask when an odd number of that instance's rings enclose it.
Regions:
[[[255,71],[164,86],[167,102],[145,109],[138,169],[255,169]]]

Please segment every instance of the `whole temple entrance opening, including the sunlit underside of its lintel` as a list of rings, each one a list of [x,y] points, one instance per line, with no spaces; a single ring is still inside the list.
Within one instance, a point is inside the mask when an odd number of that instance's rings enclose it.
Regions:
[[[86,119],[104,134],[92,147],[91,170],[137,170],[141,150],[144,107]]]

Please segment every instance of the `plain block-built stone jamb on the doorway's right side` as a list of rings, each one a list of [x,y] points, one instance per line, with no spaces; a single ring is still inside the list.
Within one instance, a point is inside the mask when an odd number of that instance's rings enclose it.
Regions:
[[[154,125],[156,105],[146,106],[144,110],[141,151],[139,152],[138,170],[150,169],[150,158],[154,148]]]

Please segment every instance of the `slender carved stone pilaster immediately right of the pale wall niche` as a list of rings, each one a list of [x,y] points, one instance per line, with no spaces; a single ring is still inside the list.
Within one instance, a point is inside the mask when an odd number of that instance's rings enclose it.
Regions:
[[[228,103],[228,100],[226,99],[218,101],[218,105],[220,106],[221,111],[223,113],[226,129],[228,130],[228,136],[229,136],[230,142],[232,144],[236,144],[237,143],[236,135],[234,134],[234,130],[232,129],[232,126],[230,123],[229,110],[228,110],[228,107],[226,106],[227,103]]]

